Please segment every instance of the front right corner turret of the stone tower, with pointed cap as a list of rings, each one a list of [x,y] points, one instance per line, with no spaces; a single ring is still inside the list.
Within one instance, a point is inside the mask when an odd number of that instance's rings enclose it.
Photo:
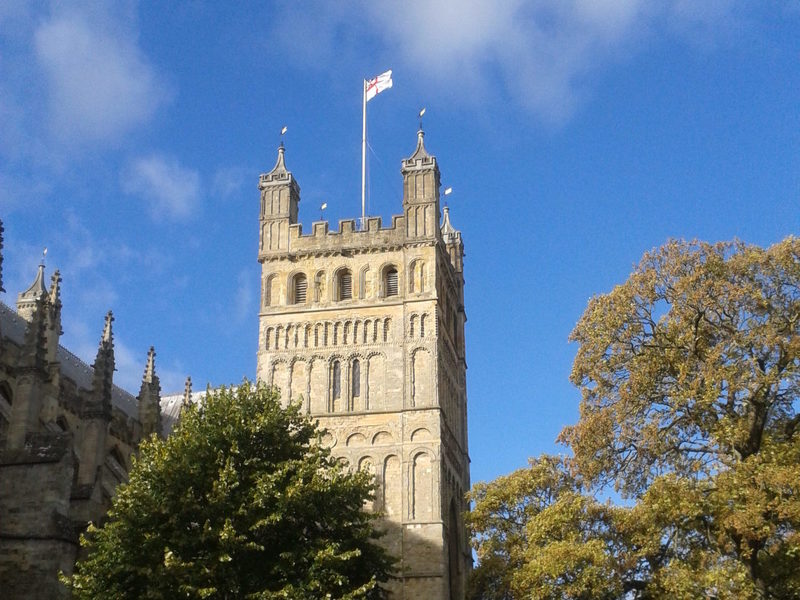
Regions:
[[[439,235],[439,166],[425,149],[425,132],[417,132],[414,154],[403,160],[403,214],[408,238]]]

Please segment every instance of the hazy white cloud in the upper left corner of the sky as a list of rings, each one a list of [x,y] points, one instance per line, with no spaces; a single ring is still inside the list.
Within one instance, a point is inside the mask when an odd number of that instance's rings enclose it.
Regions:
[[[120,136],[148,121],[169,97],[130,27],[112,12],[67,5],[34,33],[50,126],[66,140]]]

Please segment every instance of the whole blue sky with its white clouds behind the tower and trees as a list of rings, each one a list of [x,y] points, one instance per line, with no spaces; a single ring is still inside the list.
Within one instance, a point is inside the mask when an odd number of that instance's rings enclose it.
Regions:
[[[279,131],[308,230],[400,212],[417,112],[466,246],[473,480],[577,418],[567,337],[668,238],[800,225],[800,3],[0,3],[0,218],[13,304],[43,247],[62,342],[165,391],[255,372],[259,173]],[[233,5],[230,5],[233,6]]]

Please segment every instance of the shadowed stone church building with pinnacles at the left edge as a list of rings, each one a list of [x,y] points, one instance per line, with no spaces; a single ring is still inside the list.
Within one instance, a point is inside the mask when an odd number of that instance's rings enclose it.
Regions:
[[[87,365],[59,344],[60,282],[56,271],[48,290],[40,265],[16,311],[0,303],[3,600],[67,597],[58,573],[72,572],[79,534],[105,519],[139,441],[161,430],[153,349],[138,397],[114,385],[111,313]]]

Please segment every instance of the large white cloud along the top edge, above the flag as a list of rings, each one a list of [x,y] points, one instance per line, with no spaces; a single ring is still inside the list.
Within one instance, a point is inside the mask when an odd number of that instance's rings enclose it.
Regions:
[[[331,40],[367,36],[380,59],[376,68],[394,67],[398,81],[402,70],[420,77],[424,94],[483,110],[487,101],[510,101],[553,123],[574,112],[594,72],[664,31],[713,34],[741,7],[739,0],[351,0],[347,10],[334,4],[292,4],[286,18],[275,20],[276,35],[318,67],[341,54],[331,52]],[[295,35],[304,22],[320,35]]]

